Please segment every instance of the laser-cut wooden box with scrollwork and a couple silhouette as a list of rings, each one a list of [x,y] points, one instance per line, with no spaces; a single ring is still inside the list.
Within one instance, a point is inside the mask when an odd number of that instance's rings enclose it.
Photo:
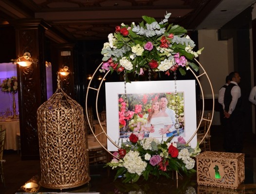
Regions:
[[[237,189],[244,181],[244,154],[242,153],[205,151],[196,159],[199,185]],[[218,175],[216,171],[220,178],[216,178],[216,174]]]

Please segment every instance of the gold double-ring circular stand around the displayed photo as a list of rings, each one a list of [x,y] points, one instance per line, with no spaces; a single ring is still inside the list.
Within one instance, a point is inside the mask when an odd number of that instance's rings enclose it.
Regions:
[[[204,136],[203,136],[201,142],[198,143],[198,144],[201,144],[201,143],[203,142],[204,138],[206,137],[207,133],[209,132],[209,129],[210,129],[211,124],[212,124],[213,113],[214,113],[214,93],[213,93],[213,88],[212,88],[211,81],[210,81],[210,79],[209,79],[209,77],[208,77],[206,71],[204,70],[204,68],[202,67],[202,65],[201,65],[196,59],[195,59],[195,61],[199,64],[199,68],[202,70],[202,73],[200,73],[200,75],[197,76],[197,75],[195,74],[195,72],[194,72],[190,67],[188,67],[188,69],[193,73],[194,77],[196,78],[196,80],[197,80],[198,83],[199,83],[199,87],[200,87],[200,91],[201,91],[201,97],[202,97],[202,114],[201,114],[201,118],[200,118],[200,121],[199,121],[199,123],[198,123],[197,129],[195,130],[194,134],[190,137],[190,139],[187,141],[187,143],[189,143],[189,142],[195,137],[195,135],[197,134],[197,131],[198,131],[200,125],[201,125],[201,122],[202,122],[203,120],[206,120],[206,121],[210,122],[210,124],[209,124],[209,127],[207,128],[207,131],[206,131],[206,133],[204,134]],[[99,135],[104,134],[104,135],[106,135],[106,137],[108,138],[108,140],[109,140],[114,146],[116,146],[117,148],[120,148],[119,146],[117,146],[117,145],[114,143],[114,141],[108,136],[108,134],[107,134],[107,133],[105,132],[105,130],[103,129],[103,127],[102,127],[102,125],[101,125],[101,122],[100,122],[99,113],[98,113],[98,103],[97,103],[97,102],[98,102],[98,97],[99,97],[99,91],[100,91],[100,89],[101,89],[101,85],[102,85],[102,83],[104,82],[106,76],[110,73],[110,70],[105,73],[105,75],[104,75],[103,79],[101,80],[101,82],[100,82],[98,88],[91,87],[91,82],[92,82],[92,80],[95,78],[95,74],[96,74],[97,71],[99,71],[99,68],[101,67],[101,65],[102,65],[102,63],[101,63],[101,64],[97,67],[97,69],[94,71],[94,73],[93,73],[93,75],[92,75],[92,77],[91,77],[91,80],[90,80],[90,82],[89,82],[89,84],[88,84],[88,87],[87,87],[86,100],[85,100],[86,117],[87,117],[87,120],[89,120],[89,116],[88,116],[88,106],[87,106],[89,90],[95,90],[95,91],[97,91],[97,96],[96,96],[96,100],[95,100],[96,114],[97,114],[97,119],[98,119],[98,121],[99,121],[99,125],[100,125],[100,127],[101,127],[102,132],[99,133],[99,134],[97,134],[97,135],[95,135],[95,133],[94,133],[94,131],[93,131],[93,126],[91,126],[91,123],[90,123],[90,122],[89,122],[89,127],[90,127],[91,132],[92,132],[92,134],[94,135],[95,139],[97,140],[97,142],[98,142],[104,149],[106,149],[106,151],[108,151],[108,152],[113,156],[113,154],[107,149],[107,147],[103,146],[103,145],[101,144],[101,142],[100,142],[100,141],[98,140],[98,138],[97,138]],[[210,118],[209,120],[203,118],[203,115],[204,115],[204,95],[203,95],[203,90],[202,90],[201,83],[200,83],[200,81],[199,81],[199,78],[200,78],[201,76],[206,76],[206,78],[207,78],[207,80],[208,80],[208,82],[209,82],[209,84],[210,84],[211,91],[212,91],[213,107],[212,107],[212,110],[211,110],[211,111],[212,111],[212,115],[211,115],[211,118]]]

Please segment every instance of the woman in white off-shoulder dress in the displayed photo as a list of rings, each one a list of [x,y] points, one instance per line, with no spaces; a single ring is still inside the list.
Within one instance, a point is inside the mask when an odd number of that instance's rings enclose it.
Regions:
[[[173,125],[167,113],[160,111],[159,100],[154,100],[151,104],[151,111],[148,113],[146,129],[150,132],[149,137],[166,137],[168,129]]]

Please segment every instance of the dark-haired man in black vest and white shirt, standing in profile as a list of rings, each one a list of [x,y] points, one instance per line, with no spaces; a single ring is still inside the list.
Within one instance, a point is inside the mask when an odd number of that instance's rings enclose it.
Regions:
[[[238,86],[240,76],[238,72],[231,72],[230,84],[224,94],[224,118],[226,120],[225,148],[226,152],[242,152],[242,99]]]

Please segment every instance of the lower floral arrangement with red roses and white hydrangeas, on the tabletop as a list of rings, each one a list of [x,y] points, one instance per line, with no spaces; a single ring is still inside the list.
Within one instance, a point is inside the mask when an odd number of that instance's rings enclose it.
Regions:
[[[171,143],[172,138],[160,143],[157,138],[144,139],[141,134],[131,134],[129,141],[122,143],[118,152],[114,152],[116,158],[107,165],[117,169],[115,179],[123,176],[123,182],[136,182],[141,176],[147,180],[149,175],[170,178],[171,171],[195,173],[192,157],[201,149],[199,146],[192,148],[182,137]]]

